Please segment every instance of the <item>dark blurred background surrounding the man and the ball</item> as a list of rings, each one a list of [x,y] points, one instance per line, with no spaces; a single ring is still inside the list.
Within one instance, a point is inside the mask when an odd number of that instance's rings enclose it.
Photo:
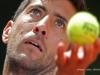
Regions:
[[[22,0],[1,0],[0,1],[0,36],[7,21],[12,18],[17,7]],[[100,0],[86,0],[88,10],[96,15],[100,23]],[[1,41],[0,37],[0,75],[2,75],[2,68],[4,63],[4,58],[6,54],[6,45]],[[86,75],[100,75],[100,55],[97,60],[89,66]],[[99,69],[95,71],[94,69]]]

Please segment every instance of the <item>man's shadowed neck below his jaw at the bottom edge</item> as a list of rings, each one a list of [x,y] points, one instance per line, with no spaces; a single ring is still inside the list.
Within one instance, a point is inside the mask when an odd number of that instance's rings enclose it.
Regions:
[[[3,75],[55,75],[55,73],[55,64],[49,65],[42,70],[29,70],[19,66],[18,64],[10,63],[7,59],[5,60],[3,70]]]

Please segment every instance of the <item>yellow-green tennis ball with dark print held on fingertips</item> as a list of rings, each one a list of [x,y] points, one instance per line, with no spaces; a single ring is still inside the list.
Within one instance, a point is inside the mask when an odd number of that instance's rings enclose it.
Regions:
[[[99,22],[89,12],[78,12],[69,20],[66,34],[72,43],[79,45],[94,43],[99,36]]]

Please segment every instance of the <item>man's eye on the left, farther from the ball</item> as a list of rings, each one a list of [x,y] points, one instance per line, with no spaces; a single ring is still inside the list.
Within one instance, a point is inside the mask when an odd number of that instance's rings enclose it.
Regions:
[[[39,21],[44,16],[44,12],[42,9],[33,8],[31,12],[31,16],[34,21]]]

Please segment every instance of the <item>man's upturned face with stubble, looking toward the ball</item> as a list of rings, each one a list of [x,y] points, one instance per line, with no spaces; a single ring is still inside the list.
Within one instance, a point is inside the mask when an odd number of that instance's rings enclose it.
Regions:
[[[69,0],[32,1],[9,32],[9,59],[30,69],[54,64],[59,43],[68,49],[65,27],[75,12]]]

